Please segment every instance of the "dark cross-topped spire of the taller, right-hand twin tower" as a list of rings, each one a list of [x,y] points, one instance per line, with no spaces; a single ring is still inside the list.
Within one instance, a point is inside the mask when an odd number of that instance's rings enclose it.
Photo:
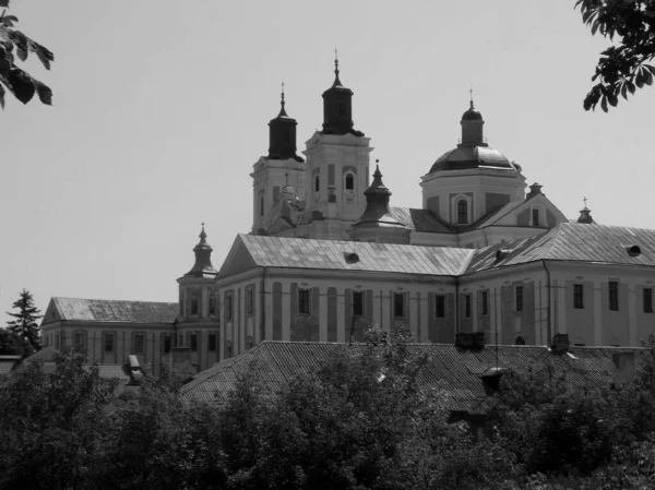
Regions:
[[[323,92],[323,131],[322,134],[354,134],[364,136],[354,129],[353,91],[346,88],[338,77],[338,57],[334,50],[334,83]]]

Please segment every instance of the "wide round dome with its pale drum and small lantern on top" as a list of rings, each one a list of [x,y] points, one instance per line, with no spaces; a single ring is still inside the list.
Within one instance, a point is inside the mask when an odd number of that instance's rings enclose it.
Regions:
[[[524,199],[525,177],[519,165],[485,141],[485,120],[473,98],[460,124],[461,143],[437,158],[420,186],[425,210],[452,225],[465,226]]]

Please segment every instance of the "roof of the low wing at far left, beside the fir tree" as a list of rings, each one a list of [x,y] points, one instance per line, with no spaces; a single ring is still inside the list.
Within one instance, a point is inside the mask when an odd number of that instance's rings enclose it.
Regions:
[[[61,320],[86,322],[172,323],[178,303],[52,298]]]

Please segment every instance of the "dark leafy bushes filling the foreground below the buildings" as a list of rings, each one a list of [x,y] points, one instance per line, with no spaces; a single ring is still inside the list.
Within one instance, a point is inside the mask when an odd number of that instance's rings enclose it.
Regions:
[[[407,338],[368,333],[272,394],[251,370],[222,403],[146,375],[117,392],[84,356],[0,386],[0,488],[641,489],[655,486],[655,349],[638,380],[571,392],[503,375],[474,442],[417,380]]]

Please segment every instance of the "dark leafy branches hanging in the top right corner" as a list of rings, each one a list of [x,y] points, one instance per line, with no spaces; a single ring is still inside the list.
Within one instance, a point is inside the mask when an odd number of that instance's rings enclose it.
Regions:
[[[628,99],[635,88],[653,84],[655,67],[647,64],[655,57],[655,0],[577,0],[583,22],[617,44],[600,53],[592,87],[584,99],[584,109],[600,108],[607,112]]]

